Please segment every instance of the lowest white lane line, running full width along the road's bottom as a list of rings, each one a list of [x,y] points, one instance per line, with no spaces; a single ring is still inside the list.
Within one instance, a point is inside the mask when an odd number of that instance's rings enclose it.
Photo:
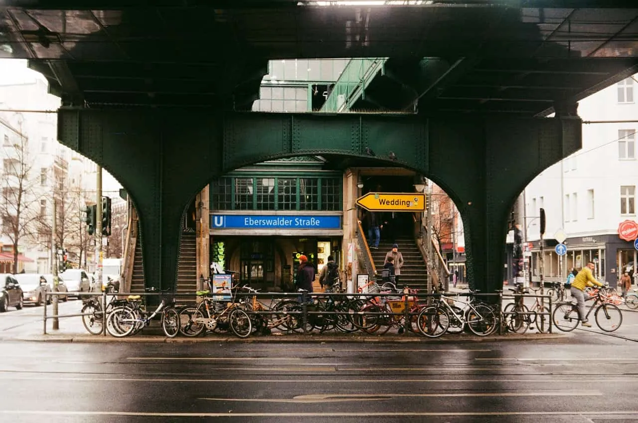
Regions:
[[[50,411],[50,410],[0,410],[0,414],[10,415],[71,415],[71,416],[141,416],[141,417],[447,417],[447,416],[589,416],[603,418],[609,416],[638,417],[638,410],[627,411],[323,411],[316,413],[178,413],[144,411]]]

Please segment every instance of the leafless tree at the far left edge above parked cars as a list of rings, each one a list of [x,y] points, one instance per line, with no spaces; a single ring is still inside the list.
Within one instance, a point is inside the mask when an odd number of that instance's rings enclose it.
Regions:
[[[18,249],[24,238],[34,235],[37,225],[38,197],[34,192],[36,180],[33,161],[29,158],[29,142],[19,125],[17,142],[5,147],[2,175],[3,201],[0,216],[3,235],[13,245],[13,272],[18,272]],[[50,231],[49,231],[50,233]]]

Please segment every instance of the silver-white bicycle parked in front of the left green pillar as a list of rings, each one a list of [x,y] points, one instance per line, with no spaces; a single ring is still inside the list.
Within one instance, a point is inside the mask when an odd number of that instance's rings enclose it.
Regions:
[[[145,291],[155,291],[147,288]],[[161,291],[161,302],[150,315],[142,309],[139,295],[130,295],[126,305],[112,309],[107,317],[107,331],[110,335],[121,338],[131,334],[137,334],[142,328],[147,327],[151,320],[161,315],[161,327],[164,334],[174,338],[179,333],[179,314],[175,309],[175,297],[169,291]]]

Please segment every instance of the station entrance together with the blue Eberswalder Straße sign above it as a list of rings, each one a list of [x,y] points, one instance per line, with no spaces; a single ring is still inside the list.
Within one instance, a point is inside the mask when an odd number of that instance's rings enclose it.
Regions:
[[[292,291],[304,254],[320,272],[328,256],[341,260],[342,215],[212,213],[211,262],[234,274],[237,284],[262,291]]]

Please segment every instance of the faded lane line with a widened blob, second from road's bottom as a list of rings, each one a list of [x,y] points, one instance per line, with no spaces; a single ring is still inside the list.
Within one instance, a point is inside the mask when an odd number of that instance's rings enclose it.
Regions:
[[[527,392],[443,392],[429,394],[308,394],[292,398],[207,398],[205,401],[232,401],[237,403],[337,403],[342,401],[377,401],[380,399],[412,397],[599,397],[599,390],[537,390]]]

